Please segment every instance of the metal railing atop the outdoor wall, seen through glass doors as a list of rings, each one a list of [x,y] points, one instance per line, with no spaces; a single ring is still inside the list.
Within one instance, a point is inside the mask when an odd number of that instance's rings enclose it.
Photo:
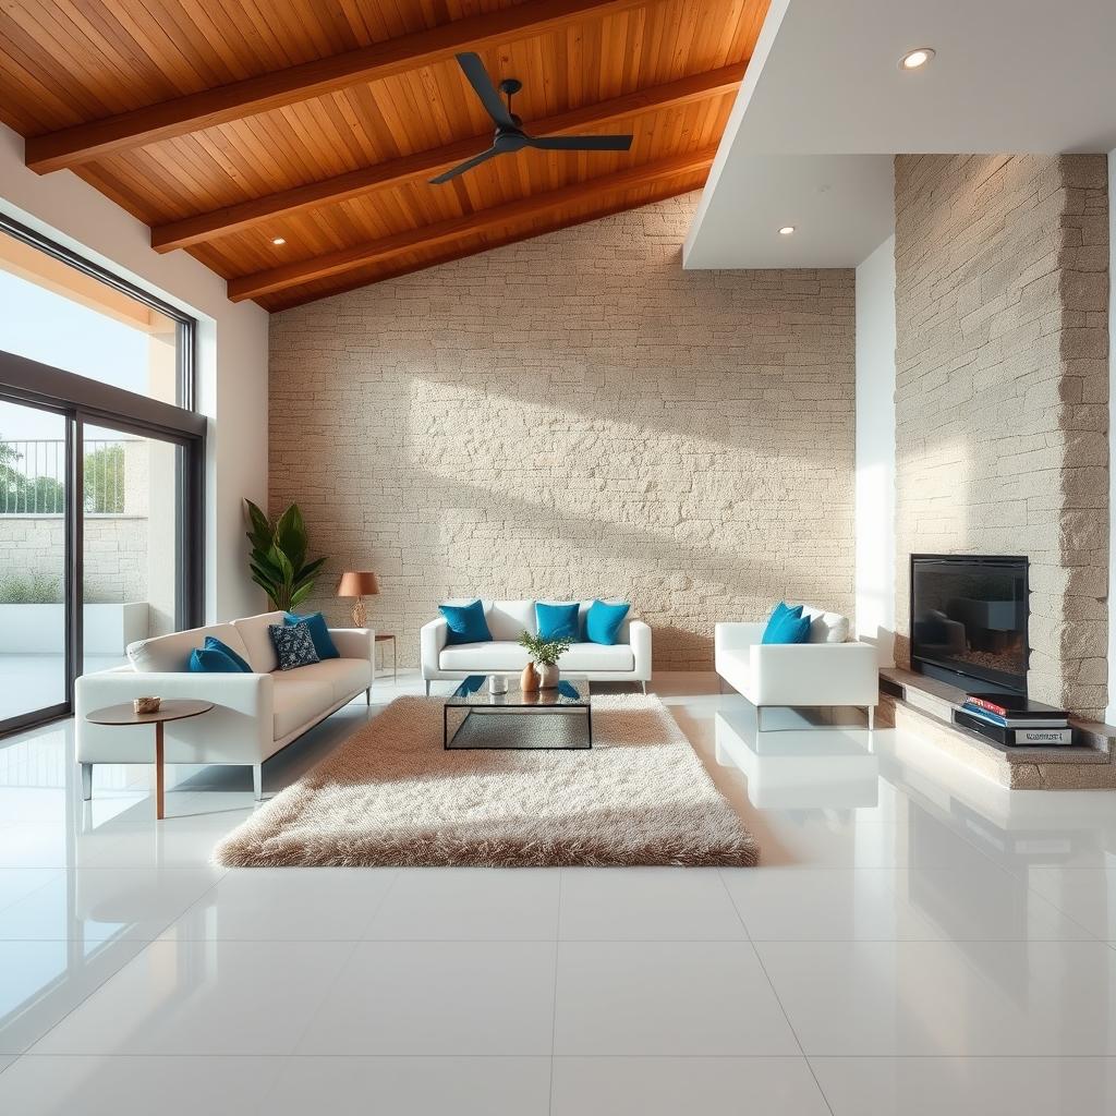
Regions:
[[[125,440],[85,442],[81,475],[86,514],[121,514]],[[66,510],[66,443],[0,440],[0,516],[60,516]]]

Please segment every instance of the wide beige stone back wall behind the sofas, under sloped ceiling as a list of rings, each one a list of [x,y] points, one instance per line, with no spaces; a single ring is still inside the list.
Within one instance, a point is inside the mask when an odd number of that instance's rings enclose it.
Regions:
[[[656,668],[719,619],[853,604],[854,273],[683,271],[698,195],[271,319],[272,510],[298,501],[417,663],[451,596],[616,595]]]

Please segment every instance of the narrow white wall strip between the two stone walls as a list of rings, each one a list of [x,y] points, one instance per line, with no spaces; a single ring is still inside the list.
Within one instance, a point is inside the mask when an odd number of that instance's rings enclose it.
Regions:
[[[856,269],[856,633],[894,664],[894,235]]]

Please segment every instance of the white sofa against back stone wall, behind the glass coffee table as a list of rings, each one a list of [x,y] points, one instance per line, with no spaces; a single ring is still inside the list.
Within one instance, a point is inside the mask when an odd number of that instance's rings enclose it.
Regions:
[[[472,600],[449,603],[468,605]],[[583,632],[585,613],[591,604],[591,600],[580,602]],[[440,616],[423,625],[419,642],[422,676],[426,682],[427,694],[431,682],[440,679],[460,681],[470,674],[513,674],[527,665],[527,652],[516,641],[525,629],[532,635],[538,634],[535,602],[485,600],[483,605],[484,618],[492,634],[491,642],[446,646],[450,628],[445,617]],[[639,682],[646,693],[651,681],[651,628],[628,614],[620,625],[615,645],[606,647],[599,643],[575,643],[558,660],[558,667],[590,682]]]

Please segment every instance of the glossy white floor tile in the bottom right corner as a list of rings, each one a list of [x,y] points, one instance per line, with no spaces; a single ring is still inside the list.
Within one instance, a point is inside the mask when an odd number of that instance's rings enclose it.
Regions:
[[[1112,1116],[1113,1058],[811,1058],[833,1116]]]

